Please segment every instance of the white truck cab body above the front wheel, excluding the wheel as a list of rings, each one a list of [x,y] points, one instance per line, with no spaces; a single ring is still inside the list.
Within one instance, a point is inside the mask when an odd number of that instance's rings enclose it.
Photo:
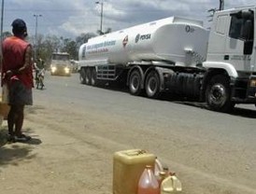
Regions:
[[[216,12],[210,30],[205,64],[226,62],[235,68],[237,74],[255,71],[254,18],[255,7]],[[228,72],[230,76],[238,76],[232,69]]]

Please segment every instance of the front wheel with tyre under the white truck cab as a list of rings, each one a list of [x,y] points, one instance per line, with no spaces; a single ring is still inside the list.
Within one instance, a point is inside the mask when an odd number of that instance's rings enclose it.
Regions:
[[[231,102],[231,89],[226,76],[213,76],[206,87],[206,104],[215,111],[229,112],[234,103]]]

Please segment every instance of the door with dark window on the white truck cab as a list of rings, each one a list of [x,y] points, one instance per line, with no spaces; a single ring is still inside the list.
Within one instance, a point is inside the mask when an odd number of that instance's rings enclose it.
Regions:
[[[237,71],[249,72],[251,71],[252,65],[255,62],[255,49],[252,47],[254,36],[254,20],[251,20],[251,32],[247,32],[249,36],[244,37],[243,34],[246,32],[245,29],[248,28],[247,23],[249,21],[249,16],[245,17],[244,15],[245,14],[242,11],[239,11],[235,14],[230,14],[229,34],[226,40],[224,60],[233,64]],[[249,46],[248,43],[252,45]],[[249,48],[250,51],[245,53],[245,48]]]

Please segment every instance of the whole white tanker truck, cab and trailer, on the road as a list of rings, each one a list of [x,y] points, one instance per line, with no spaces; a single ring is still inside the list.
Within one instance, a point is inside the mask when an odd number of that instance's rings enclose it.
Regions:
[[[93,37],[79,48],[80,82],[125,80],[133,95],[168,91],[221,112],[256,104],[255,12],[217,11],[210,30],[170,17]]]

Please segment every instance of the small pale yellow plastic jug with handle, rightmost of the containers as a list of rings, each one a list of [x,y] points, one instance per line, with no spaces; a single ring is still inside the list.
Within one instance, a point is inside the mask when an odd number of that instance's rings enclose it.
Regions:
[[[176,175],[169,175],[162,181],[161,194],[176,193],[181,190],[181,183]]]

